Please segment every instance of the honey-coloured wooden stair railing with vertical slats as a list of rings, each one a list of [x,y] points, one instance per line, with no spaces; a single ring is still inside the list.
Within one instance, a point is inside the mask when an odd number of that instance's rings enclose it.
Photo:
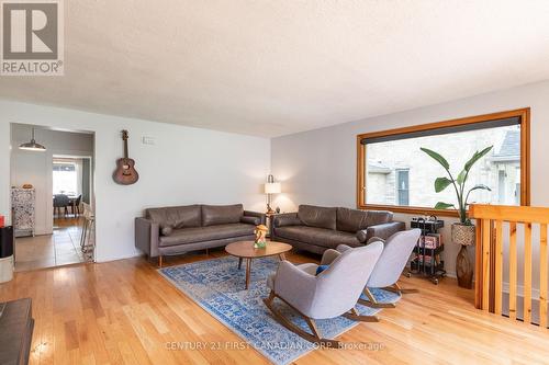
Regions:
[[[539,248],[539,320],[536,324],[547,328],[548,309],[548,259],[547,225],[549,208],[529,206],[471,205],[470,218],[477,219],[475,296],[477,308],[502,315],[504,296],[504,242],[508,239],[508,317],[533,323],[533,247]],[[504,226],[508,225],[508,237]],[[524,227],[524,237],[517,227]],[[539,227],[539,240],[533,242],[533,227]],[[507,236],[507,235],[505,235]],[[519,286],[517,241],[524,242],[523,250],[523,310],[517,312]]]

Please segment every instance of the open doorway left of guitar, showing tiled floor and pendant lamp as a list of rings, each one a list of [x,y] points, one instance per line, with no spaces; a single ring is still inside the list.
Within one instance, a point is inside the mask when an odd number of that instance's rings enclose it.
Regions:
[[[45,149],[19,148],[33,134]],[[15,271],[94,261],[93,134],[12,124],[11,141]]]

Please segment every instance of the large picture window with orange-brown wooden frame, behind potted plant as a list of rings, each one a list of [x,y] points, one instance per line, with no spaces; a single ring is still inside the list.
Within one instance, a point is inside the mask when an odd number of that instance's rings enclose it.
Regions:
[[[456,175],[477,151],[493,146],[474,164],[468,185],[491,189],[471,193],[471,203],[529,205],[529,110],[362,134],[357,137],[359,208],[455,215],[435,210],[437,202],[455,202],[455,192],[435,192],[444,169],[421,148],[442,155]]]

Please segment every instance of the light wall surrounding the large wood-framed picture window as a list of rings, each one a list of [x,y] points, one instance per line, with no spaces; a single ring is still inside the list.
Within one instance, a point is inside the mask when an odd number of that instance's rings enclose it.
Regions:
[[[358,134],[526,106],[531,107],[531,205],[549,206],[549,81],[273,138],[272,173],[282,181],[284,192],[274,205],[283,210],[307,203],[356,207]],[[412,217],[395,216],[406,223]],[[445,220],[447,227],[453,221]],[[449,228],[444,235],[449,243]],[[446,246],[444,259],[450,275],[455,275],[458,251],[457,246]]]

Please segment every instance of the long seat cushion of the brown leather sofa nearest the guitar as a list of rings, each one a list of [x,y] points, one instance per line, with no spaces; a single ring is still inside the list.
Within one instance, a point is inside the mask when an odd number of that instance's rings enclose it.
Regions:
[[[228,224],[209,227],[175,229],[170,236],[160,237],[160,247],[214,241],[224,238],[254,236],[255,227],[245,224]]]

